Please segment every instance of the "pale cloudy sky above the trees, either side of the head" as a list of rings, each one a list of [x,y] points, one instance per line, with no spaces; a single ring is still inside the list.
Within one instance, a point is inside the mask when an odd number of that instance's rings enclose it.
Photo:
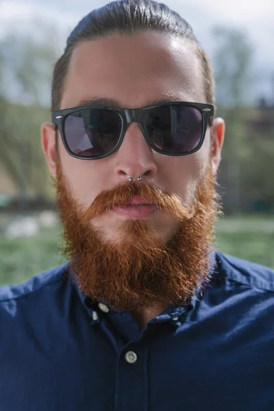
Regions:
[[[254,48],[258,93],[274,100],[274,1],[273,0],[163,0],[192,25],[201,46],[214,53],[212,29],[241,29]],[[16,31],[39,36],[37,21],[58,27],[53,47],[64,51],[66,37],[88,12],[105,5],[103,0],[0,0],[0,38]]]

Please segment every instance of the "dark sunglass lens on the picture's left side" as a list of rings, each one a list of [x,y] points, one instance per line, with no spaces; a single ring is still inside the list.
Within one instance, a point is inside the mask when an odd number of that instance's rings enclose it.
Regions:
[[[69,114],[64,123],[66,142],[82,158],[99,157],[112,151],[121,136],[122,119],[117,112],[88,108]]]

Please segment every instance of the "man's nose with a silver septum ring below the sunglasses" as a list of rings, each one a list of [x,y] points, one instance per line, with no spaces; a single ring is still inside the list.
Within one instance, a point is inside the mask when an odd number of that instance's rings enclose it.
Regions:
[[[154,153],[138,123],[130,123],[122,145],[116,152],[114,173],[120,182],[127,181],[129,177],[132,177],[134,182],[138,181],[138,177],[142,177],[142,181],[148,181],[158,171]]]

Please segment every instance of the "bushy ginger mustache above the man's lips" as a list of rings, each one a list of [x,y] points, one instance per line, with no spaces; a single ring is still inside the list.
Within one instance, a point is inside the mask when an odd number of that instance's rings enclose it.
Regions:
[[[100,192],[84,212],[83,222],[101,216],[114,207],[125,207],[136,195],[140,195],[144,203],[146,201],[154,203],[159,210],[174,214],[179,221],[190,219],[195,213],[196,201],[187,208],[182,203],[182,199],[173,192],[162,190],[148,183],[123,182],[110,190]]]

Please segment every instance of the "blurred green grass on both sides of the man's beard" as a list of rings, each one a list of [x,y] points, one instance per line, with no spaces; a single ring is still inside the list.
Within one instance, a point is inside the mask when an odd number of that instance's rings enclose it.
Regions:
[[[216,248],[274,269],[274,219],[226,217],[217,229]],[[43,229],[37,237],[0,237],[0,286],[25,281],[64,262],[58,251],[59,228]]]

